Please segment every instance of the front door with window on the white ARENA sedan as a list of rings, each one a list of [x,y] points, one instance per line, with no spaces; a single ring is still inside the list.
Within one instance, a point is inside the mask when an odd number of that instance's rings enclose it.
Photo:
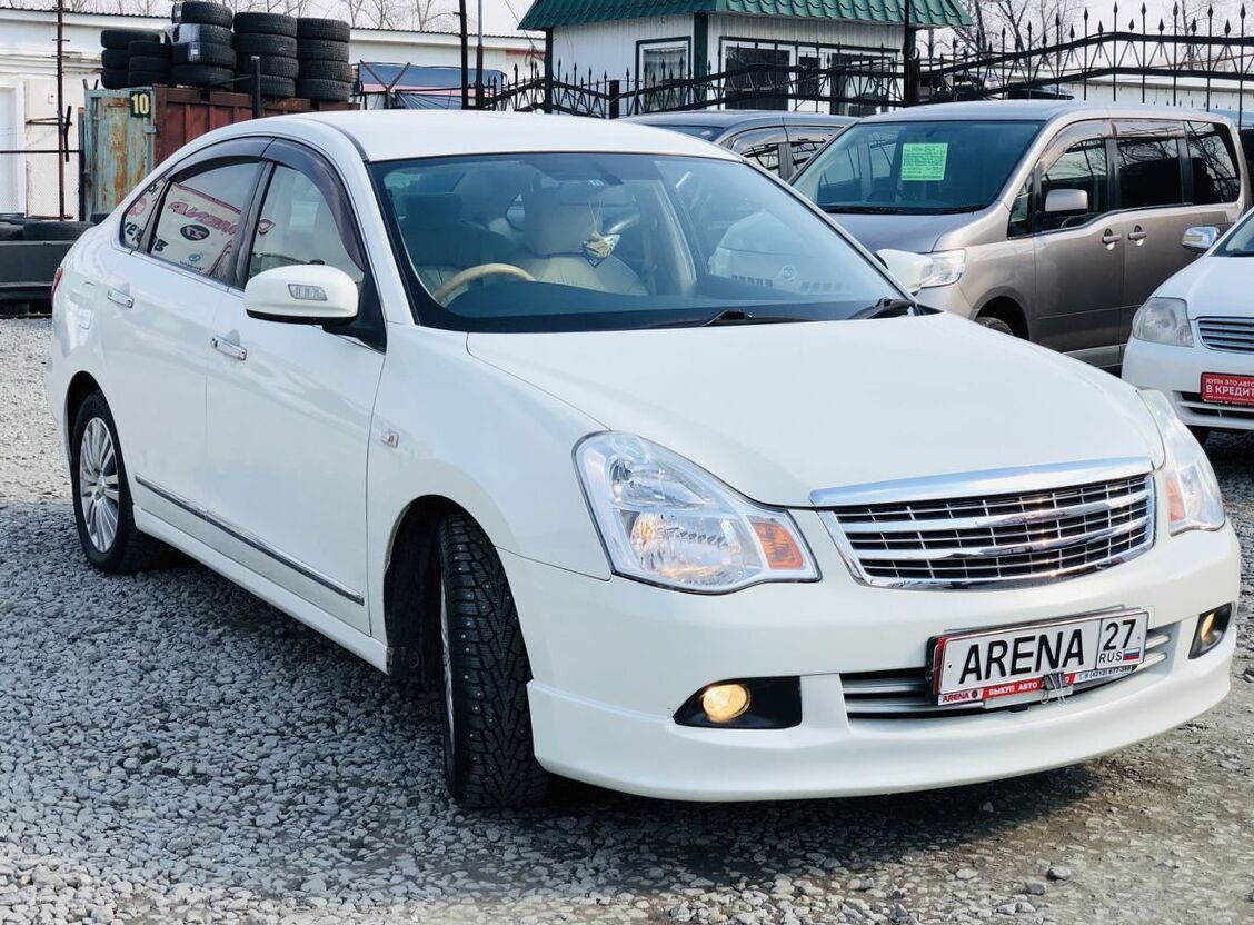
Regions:
[[[362,312],[379,311],[346,193],[324,162],[293,150],[267,150],[276,160],[241,282],[276,267],[327,264],[365,292]],[[208,461],[228,554],[369,633],[366,454],[382,351],[335,328],[250,317],[240,290],[216,337]]]

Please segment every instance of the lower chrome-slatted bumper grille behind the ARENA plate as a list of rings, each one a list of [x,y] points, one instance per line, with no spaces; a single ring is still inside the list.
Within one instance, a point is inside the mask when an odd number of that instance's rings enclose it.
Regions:
[[[1171,629],[1151,630],[1145,639],[1145,658],[1129,674],[1116,678],[1101,678],[1077,684],[1071,696],[1095,687],[1114,684],[1124,678],[1140,674],[1167,658],[1167,643],[1171,642]],[[915,668],[900,672],[854,672],[840,676],[840,686],[845,694],[845,713],[850,719],[918,719],[935,716],[962,716],[964,713],[987,713],[991,709],[1025,709],[1040,704],[1017,704],[1014,707],[983,707],[969,703],[949,703],[940,706],[935,694],[928,688],[927,671]]]

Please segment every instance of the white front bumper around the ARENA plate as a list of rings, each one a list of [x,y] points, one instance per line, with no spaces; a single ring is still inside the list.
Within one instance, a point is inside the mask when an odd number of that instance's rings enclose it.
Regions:
[[[1239,592],[1230,528],[1159,540],[1072,580],[1012,590],[867,588],[811,511],[798,511],[824,580],[703,597],[608,582],[502,553],[523,620],[535,753],[548,770],[645,796],[776,800],[924,790],[1031,773],[1110,752],[1213,707],[1228,691],[1234,633],[1190,661],[1200,613]],[[841,674],[920,668],[942,632],[1146,608],[1166,659],[1023,712],[849,717]],[[677,726],[672,712],[729,678],[800,677],[800,726]]]

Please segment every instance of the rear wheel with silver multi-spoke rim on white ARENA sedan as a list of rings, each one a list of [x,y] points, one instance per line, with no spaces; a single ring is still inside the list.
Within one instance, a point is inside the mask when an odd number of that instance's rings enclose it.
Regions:
[[[135,528],[122,445],[100,392],[79,406],[70,447],[74,520],[88,562],[110,573],[168,565],[174,550]]]

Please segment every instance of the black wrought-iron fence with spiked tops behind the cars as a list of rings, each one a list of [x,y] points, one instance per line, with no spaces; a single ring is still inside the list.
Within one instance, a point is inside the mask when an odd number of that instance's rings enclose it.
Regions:
[[[938,46],[928,33],[909,58],[895,48],[824,46],[805,58],[798,54],[799,64],[788,66],[727,68],[719,61],[685,73],[612,76],[556,61],[489,83],[479,107],[609,119],[719,107],[864,115],[914,103],[1043,97],[1224,108],[1244,115],[1254,79],[1254,34],[1246,31],[1254,33],[1254,24],[1246,23],[1244,6],[1231,19],[1210,10],[1185,20],[1176,8],[1170,20],[1151,20],[1142,4],[1126,28],[1122,23],[1116,5],[1110,24],[1085,11],[1071,25],[1055,19],[1045,30],[1028,24],[1018,34],[977,34],[957,50]],[[760,43],[762,49],[775,45]]]

